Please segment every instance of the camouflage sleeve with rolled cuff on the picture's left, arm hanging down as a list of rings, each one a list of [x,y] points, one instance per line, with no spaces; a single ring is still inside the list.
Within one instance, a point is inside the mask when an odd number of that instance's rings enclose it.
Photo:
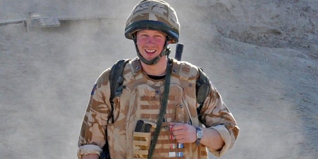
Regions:
[[[106,143],[105,130],[111,113],[109,71],[101,74],[91,91],[79,134],[79,159],[82,155],[99,155]]]

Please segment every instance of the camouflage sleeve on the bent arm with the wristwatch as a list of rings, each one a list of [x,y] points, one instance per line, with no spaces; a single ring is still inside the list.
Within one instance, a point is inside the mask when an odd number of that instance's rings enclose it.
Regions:
[[[213,155],[220,158],[234,146],[239,135],[239,127],[218,90],[213,84],[210,85],[211,91],[200,111],[200,120],[207,128],[215,129],[221,135],[225,143],[223,148],[220,150],[208,148]]]

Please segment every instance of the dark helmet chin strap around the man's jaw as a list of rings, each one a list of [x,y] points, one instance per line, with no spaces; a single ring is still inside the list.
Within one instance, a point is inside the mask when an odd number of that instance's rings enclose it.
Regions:
[[[135,43],[135,48],[136,48],[136,51],[137,51],[137,56],[138,58],[145,64],[147,65],[155,65],[159,62],[159,60],[161,59],[162,56],[169,56],[171,50],[170,48],[168,47],[168,38],[165,38],[165,43],[164,43],[164,46],[163,46],[163,49],[160,53],[160,55],[158,55],[156,58],[154,58],[153,60],[146,60],[139,52],[138,50],[138,47],[137,47],[137,37],[136,36],[133,36],[133,40],[134,40],[134,43]]]

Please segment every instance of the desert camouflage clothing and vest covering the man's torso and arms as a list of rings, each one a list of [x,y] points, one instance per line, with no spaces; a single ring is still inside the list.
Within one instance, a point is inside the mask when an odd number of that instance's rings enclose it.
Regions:
[[[142,72],[138,58],[129,62],[123,73],[122,95],[114,98],[115,122],[107,123],[111,117],[109,72],[110,69],[107,69],[97,79],[90,96],[79,136],[79,158],[86,153],[82,149],[85,145],[97,145],[100,148],[104,146],[106,127],[112,159],[147,158],[149,141],[155,128],[151,128],[150,134],[134,133],[134,130],[138,120],[157,122],[164,79],[149,79]],[[178,154],[182,154],[180,158],[183,159],[208,159],[207,148],[202,144],[199,146],[195,143],[183,144],[182,148],[178,149],[176,140],[171,139],[169,122],[192,123],[193,126],[217,130],[225,142],[221,150],[210,149],[210,152],[217,157],[221,157],[233,147],[239,128],[221,95],[212,84],[211,92],[200,112],[203,123],[199,122],[196,111],[199,104],[195,94],[198,76],[197,67],[187,62],[173,60],[166,120],[162,124],[153,159],[173,159],[177,158]],[[139,140],[141,138],[142,140]]]

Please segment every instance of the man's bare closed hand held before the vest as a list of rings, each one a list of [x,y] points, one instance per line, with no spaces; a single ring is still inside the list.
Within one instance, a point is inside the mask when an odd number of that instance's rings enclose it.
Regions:
[[[178,143],[194,143],[197,140],[197,129],[185,123],[171,123],[172,134]]]

